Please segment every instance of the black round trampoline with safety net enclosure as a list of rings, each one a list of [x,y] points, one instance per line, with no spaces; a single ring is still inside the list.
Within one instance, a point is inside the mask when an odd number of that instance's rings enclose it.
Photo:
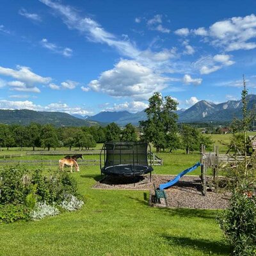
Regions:
[[[100,152],[101,175],[119,175],[127,177],[151,173],[152,159],[148,165],[148,147],[145,142],[106,142]],[[104,152],[104,166],[102,167]]]

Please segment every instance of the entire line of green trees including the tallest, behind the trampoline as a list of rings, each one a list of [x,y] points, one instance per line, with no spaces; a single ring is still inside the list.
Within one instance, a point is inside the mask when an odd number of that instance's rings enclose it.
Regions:
[[[156,92],[149,99],[145,110],[147,120],[140,122],[139,129],[132,124],[121,129],[115,123],[106,127],[61,127],[50,124],[32,123],[28,126],[0,125],[0,147],[35,147],[56,148],[72,147],[93,148],[96,143],[105,141],[136,141],[152,143],[156,151],[168,149],[185,149],[186,153],[199,150],[200,145],[206,147],[212,144],[211,138],[203,136],[202,132],[191,125],[178,127],[177,102],[170,96],[162,97]]]

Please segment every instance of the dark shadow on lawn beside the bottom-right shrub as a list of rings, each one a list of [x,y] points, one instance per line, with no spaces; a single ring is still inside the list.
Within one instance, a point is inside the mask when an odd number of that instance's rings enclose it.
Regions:
[[[195,248],[208,255],[216,253],[218,255],[230,255],[230,247],[221,241],[209,241],[206,239],[193,239],[189,237],[162,236],[170,245]]]

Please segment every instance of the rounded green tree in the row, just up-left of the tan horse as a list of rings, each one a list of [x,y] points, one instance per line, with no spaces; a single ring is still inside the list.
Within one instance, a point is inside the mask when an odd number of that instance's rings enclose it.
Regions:
[[[56,129],[51,124],[46,124],[42,127],[41,131],[41,143],[42,147],[47,148],[56,148],[59,145],[58,136]]]

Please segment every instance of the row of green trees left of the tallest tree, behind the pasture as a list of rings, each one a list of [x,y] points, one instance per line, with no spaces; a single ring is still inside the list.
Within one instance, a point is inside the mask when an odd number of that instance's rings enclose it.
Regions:
[[[32,123],[28,126],[0,124],[0,148],[36,147],[56,148],[79,147],[81,149],[96,147],[96,143],[105,141],[135,141],[136,129],[127,124],[123,130],[115,123],[106,127],[61,127],[50,124]]]

